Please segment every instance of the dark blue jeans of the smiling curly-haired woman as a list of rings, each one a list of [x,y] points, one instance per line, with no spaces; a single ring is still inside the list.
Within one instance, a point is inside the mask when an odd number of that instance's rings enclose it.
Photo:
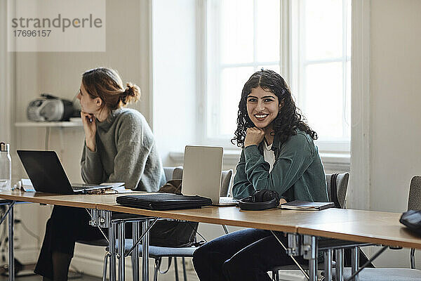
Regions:
[[[277,237],[288,247],[282,233]],[[306,263],[302,257],[298,262]],[[194,252],[193,264],[201,281],[271,280],[267,271],[293,264],[269,230],[246,229],[212,240]]]

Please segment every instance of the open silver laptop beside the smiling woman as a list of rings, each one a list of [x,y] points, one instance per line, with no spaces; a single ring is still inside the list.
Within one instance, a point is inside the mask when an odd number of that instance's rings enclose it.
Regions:
[[[210,198],[213,205],[235,205],[232,197],[221,197],[222,155],[224,149],[215,146],[185,148],[182,171],[182,194]]]

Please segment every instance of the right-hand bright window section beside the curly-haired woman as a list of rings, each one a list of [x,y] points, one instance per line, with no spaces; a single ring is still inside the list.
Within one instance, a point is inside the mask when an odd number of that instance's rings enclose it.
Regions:
[[[291,2],[291,82],[321,150],[349,151],[351,0]]]

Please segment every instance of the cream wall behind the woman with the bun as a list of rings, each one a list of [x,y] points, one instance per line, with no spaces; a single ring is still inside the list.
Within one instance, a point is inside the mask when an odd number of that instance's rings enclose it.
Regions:
[[[83,71],[98,66],[113,67],[119,71],[123,82],[132,81],[142,90],[140,102],[131,106],[152,120],[149,85],[149,3],[148,1],[109,0],[106,15],[107,51],[104,53],[16,53],[15,121],[25,122],[26,107],[40,93],[52,93],[72,100],[80,87]],[[77,44],[77,42],[74,42]],[[16,128],[16,149],[44,149],[44,128]],[[52,128],[50,150],[56,150],[71,181],[81,182],[80,157],[83,145],[83,129]],[[13,154],[13,182],[27,177],[16,154]],[[50,208],[28,204],[17,207],[22,221],[39,237],[44,237],[46,219]],[[35,215],[34,215],[35,214]],[[38,256],[36,240],[20,226],[20,250],[18,259],[34,262]],[[88,273],[100,274],[104,249],[101,247],[76,247],[72,264]],[[91,260],[87,263],[86,257]]]

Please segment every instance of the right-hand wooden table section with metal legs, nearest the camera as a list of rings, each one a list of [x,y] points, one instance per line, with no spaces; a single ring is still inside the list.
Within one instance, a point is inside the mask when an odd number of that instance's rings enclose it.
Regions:
[[[335,240],[348,240],[357,243],[380,244],[389,247],[407,247],[420,249],[421,237],[410,232],[399,223],[400,213],[382,211],[362,211],[353,209],[329,209],[316,214],[318,220],[298,226],[298,235],[310,237],[328,237]],[[374,256],[380,255],[383,247]],[[325,259],[325,281],[332,280],[332,250],[327,249]],[[342,280],[343,250],[335,249],[336,277]],[[359,245],[352,248],[352,273],[359,270]],[[358,281],[358,275],[354,277]]]

